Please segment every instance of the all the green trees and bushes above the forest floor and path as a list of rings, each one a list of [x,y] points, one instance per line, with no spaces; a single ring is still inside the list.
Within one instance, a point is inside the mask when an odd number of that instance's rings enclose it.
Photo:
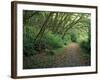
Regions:
[[[43,53],[55,55],[72,42],[78,43],[90,55],[90,17],[89,13],[24,10],[24,56]]]

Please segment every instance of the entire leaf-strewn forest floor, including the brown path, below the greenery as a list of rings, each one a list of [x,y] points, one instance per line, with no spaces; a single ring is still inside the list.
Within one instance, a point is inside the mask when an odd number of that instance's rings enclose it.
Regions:
[[[90,56],[83,52],[77,43],[65,46],[54,55],[45,53],[24,57],[24,69],[89,66]]]

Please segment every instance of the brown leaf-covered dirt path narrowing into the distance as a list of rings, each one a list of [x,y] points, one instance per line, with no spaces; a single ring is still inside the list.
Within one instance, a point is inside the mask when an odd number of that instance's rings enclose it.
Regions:
[[[86,65],[80,46],[74,42],[67,45],[59,55],[56,55],[55,64],[58,66]]]

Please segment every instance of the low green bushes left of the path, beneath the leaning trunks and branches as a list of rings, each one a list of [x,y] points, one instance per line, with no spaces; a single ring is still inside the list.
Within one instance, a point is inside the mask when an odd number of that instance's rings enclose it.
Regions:
[[[23,51],[24,55],[31,56],[39,53],[40,50],[47,52],[50,55],[54,54],[53,49],[63,46],[61,36],[48,32],[41,40],[34,43],[37,35],[37,29],[31,26],[24,26],[23,33]]]

